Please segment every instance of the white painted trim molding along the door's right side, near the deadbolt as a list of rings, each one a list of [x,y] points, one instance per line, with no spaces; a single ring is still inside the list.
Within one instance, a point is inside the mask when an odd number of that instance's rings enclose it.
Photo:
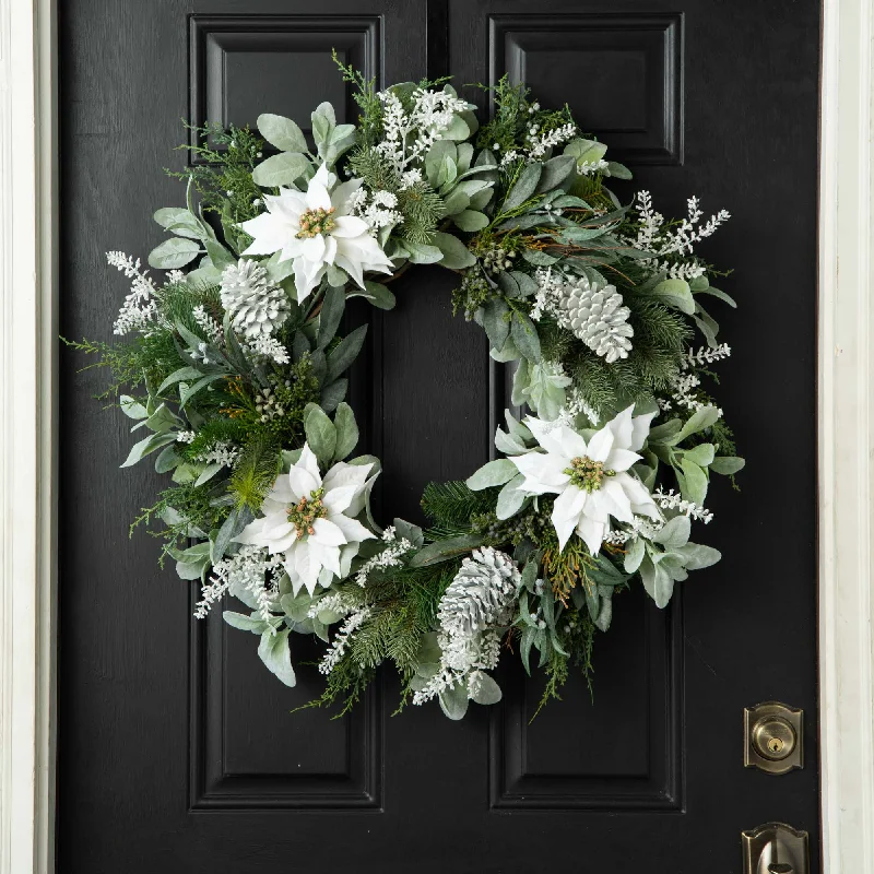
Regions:
[[[819,732],[826,874],[874,871],[871,0],[826,0],[819,170]]]

